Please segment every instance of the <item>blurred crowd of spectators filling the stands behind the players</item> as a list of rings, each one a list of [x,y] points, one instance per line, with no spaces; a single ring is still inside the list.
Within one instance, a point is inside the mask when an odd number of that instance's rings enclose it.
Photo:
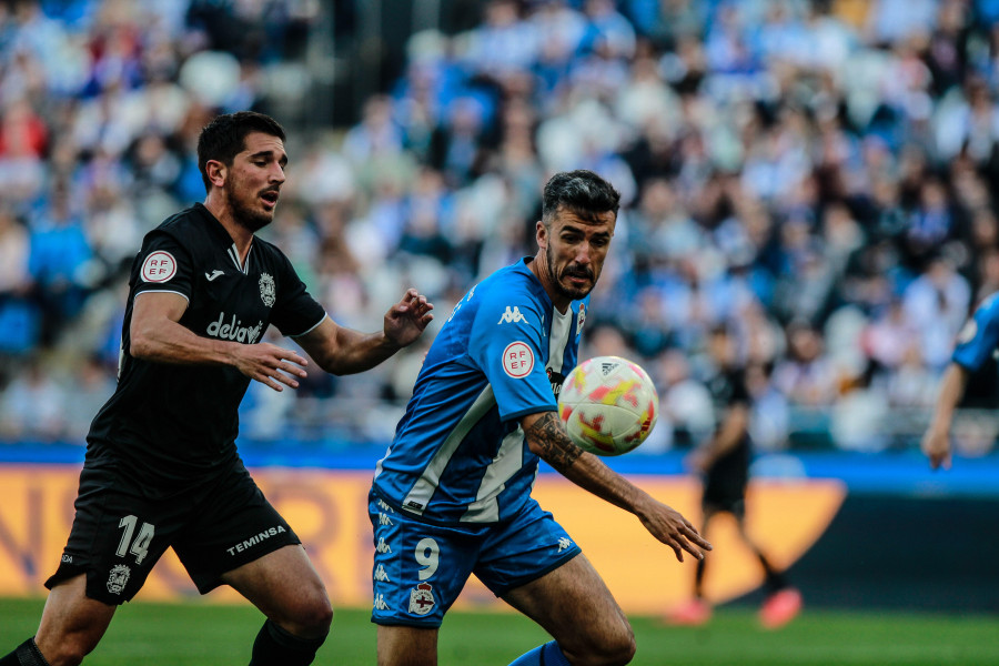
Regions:
[[[82,443],[141,238],[204,196],[199,129],[250,108],[281,121],[289,72],[319,77],[302,36],[325,4],[0,3],[0,436]],[[287,125],[263,235],[329,314],[376,330],[412,284],[436,304],[428,343],[475,281],[534,253],[548,175],[592,169],[623,206],[583,354],[656,379],[645,451],[712,427],[719,325],[760,447],[911,446],[999,290],[999,0],[472,4],[474,27],[408,40],[356,123]],[[297,392],[252,385],[244,435],[382,445],[416,347]],[[966,406],[993,406],[996,384],[981,373]],[[991,447],[992,420],[966,431]]]

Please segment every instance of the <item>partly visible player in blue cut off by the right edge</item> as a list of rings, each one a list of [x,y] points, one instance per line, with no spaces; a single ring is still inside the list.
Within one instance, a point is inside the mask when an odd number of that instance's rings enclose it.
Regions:
[[[950,364],[944,372],[937,405],[929,428],[922,436],[922,453],[934,470],[950,468],[950,426],[953,413],[965,395],[968,379],[989,357],[999,353],[999,293],[987,297],[958,334]]]

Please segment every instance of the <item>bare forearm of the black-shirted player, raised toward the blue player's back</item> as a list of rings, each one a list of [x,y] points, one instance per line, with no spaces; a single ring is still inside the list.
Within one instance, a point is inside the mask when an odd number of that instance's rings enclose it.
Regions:
[[[433,309],[426,296],[410,289],[385,313],[384,325],[377,333],[361,333],[326,317],[295,342],[326,372],[336,375],[363,372],[415,342],[433,321]]]

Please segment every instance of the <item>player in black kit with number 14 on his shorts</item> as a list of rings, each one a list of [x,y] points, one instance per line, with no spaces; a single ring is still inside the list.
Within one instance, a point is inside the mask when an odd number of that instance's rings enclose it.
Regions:
[[[416,290],[363,334],[326,316],[289,260],[254,232],[284,183],[284,131],[253,112],[201,132],[208,195],[163,222],[132,266],[118,389],[88,435],[75,518],[37,635],[0,666],[79,664],[172,547],[204,594],[230,585],[266,616],[251,665],[310,664],[333,610],[291,526],[239,454],[251,380],[294,389],[307,362],[263,343],[271,324],[326,372],[370,369],[433,319]]]

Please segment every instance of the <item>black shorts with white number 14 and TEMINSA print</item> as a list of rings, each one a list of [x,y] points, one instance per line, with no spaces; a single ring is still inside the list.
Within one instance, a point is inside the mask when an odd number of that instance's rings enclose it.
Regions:
[[[241,462],[165,498],[143,491],[124,474],[84,467],[62,562],[46,587],[87,574],[88,597],[123,604],[172,547],[205,594],[225,572],[301,543]]]

